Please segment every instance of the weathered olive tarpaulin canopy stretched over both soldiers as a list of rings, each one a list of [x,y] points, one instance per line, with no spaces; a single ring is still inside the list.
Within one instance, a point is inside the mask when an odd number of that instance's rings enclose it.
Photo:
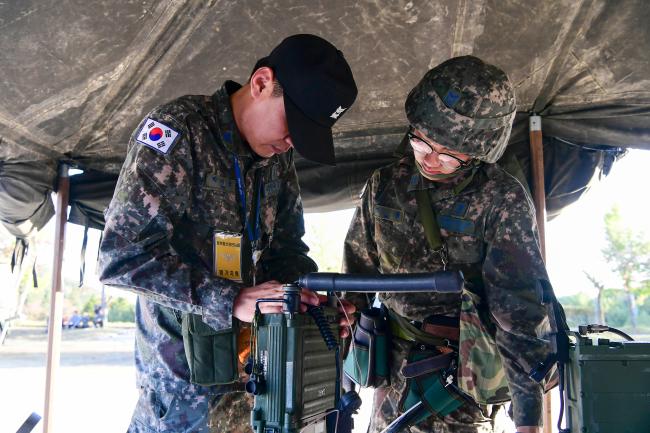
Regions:
[[[0,219],[28,236],[53,214],[57,165],[70,221],[101,228],[133,129],[154,106],[246,80],[284,37],[339,47],[359,97],[337,123],[335,168],[297,158],[307,211],[351,207],[394,157],[403,103],[424,72],[473,54],[508,72],[518,116],[509,153],[528,171],[528,115],[542,116],[550,215],[621,149],[650,149],[645,0],[151,1],[0,3]]]

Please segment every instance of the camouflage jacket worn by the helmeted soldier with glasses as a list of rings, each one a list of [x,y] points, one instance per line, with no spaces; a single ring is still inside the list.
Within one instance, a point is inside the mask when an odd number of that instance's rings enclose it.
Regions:
[[[462,270],[466,286],[479,294],[496,324],[501,355],[519,426],[541,425],[542,387],[528,378],[546,358],[550,343],[540,279],[542,261],[534,206],[522,185],[496,164],[482,164],[459,193],[449,183],[422,177],[410,154],[375,171],[356,209],[344,247],[344,272],[407,273],[443,269],[417,216],[415,191],[429,189],[448,249],[447,269]],[[356,303],[363,304],[356,299]],[[411,320],[433,314],[457,316],[452,294],[380,294],[389,308]],[[362,307],[363,305],[358,305]]]

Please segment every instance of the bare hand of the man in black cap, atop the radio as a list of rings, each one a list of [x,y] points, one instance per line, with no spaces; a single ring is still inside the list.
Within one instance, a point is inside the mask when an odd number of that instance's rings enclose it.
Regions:
[[[282,283],[278,281],[267,281],[257,286],[243,288],[235,297],[233,303],[232,314],[242,322],[252,322],[255,315],[255,302],[261,298],[278,298],[282,299],[284,290],[282,290]],[[300,292],[300,311],[307,311],[307,306],[318,305],[318,295],[307,289],[302,289]],[[281,313],[282,302],[263,302],[260,304],[260,311],[262,313]]]

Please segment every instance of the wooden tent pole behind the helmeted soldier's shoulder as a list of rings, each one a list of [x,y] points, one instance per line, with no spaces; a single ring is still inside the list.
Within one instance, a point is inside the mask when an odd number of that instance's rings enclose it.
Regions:
[[[542,143],[542,118],[531,115],[529,119],[530,133],[530,166],[533,174],[533,201],[535,202],[535,216],[539,230],[539,243],[542,258],[546,262],[546,191],[544,188],[544,147]],[[544,433],[552,433],[553,419],[551,412],[551,394],[544,394],[544,408],[542,410]]]

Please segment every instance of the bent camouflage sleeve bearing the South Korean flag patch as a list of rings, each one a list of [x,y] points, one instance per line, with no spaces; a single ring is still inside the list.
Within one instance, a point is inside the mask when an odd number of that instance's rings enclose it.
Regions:
[[[131,290],[167,307],[203,316],[214,329],[229,328],[241,285],[212,276],[200,260],[174,248],[176,227],[191,203],[192,157],[181,122],[159,115],[179,132],[168,154],[133,138],[100,245],[102,283]]]

